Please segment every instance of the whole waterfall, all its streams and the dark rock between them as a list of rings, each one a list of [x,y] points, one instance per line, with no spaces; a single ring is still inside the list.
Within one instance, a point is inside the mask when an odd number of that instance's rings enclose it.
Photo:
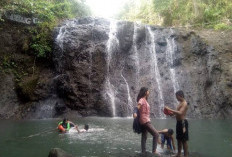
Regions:
[[[149,87],[151,116],[162,118],[164,104],[176,100],[184,69],[172,29],[87,18],[68,21],[57,34],[54,61],[66,76],[57,79],[58,90],[70,108],[127,117],[139,89]]]

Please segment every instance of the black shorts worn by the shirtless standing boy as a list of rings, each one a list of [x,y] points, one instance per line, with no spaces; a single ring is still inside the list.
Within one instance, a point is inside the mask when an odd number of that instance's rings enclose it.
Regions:
[[[185,128],[185,132],[184,131]],[[180,141],[188,141],[188,121],[180,120],[176,123],[176,139]]]

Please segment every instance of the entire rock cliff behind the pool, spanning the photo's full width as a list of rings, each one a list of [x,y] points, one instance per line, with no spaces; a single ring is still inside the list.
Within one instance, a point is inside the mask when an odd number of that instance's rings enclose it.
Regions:
[[[176,107],[174,93],[182,89],[188,117],[232,118],[231,32],[199,37],[93,18],[69,20],[54,32],[53,62],[36,61],[34,75],[34,57],[25,53],[29,35],[16,25],[0,31],[0,119],[126,117],[143,86],[150,89],[153,117],[163,116],[164,105]],[[15,82],[15,69],[4,70],[6,63],[28,76]]]

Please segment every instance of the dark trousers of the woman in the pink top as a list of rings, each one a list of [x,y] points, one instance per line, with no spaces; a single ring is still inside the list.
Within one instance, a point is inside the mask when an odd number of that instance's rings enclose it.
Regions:
[[[153,136],[152,151],[155,152],[156,148],[157,148],[157,142],[158,142],[159,133],[151,125],[150,122],[145,123],[145,124],[142,125],[142,138],[141,138],[142,152],[143,153],[146,152],[147,132],[149,132]]]

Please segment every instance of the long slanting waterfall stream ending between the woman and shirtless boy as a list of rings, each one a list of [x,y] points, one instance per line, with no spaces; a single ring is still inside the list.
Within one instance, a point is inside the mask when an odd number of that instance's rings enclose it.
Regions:
[[[163,112],[161,112],[161,109],[164,108],[164,99],[163,99],[163,92],[162,92],[162,88],[161,88],[161,76],[160,76],[160,72],[159,72],[159,67],[158,67],[158,62],[157,62],[157,56],[156,56],[156,46],[155,46],[155,33],[152,32],[150,27],[147,27],[148,32],[149,32],[149,36],[150,36],[150,40],[151,40],[151,46],[149,47],[149,51],[150,51],[150,55],[151,55],[151,70],[152,72],[155,72],[155,79],[157,82],[157,86],[158,86],[158,93],[159,93],[159,116],[160,117],[164,117]],[[153,88],[155,89],[155,88]]]

